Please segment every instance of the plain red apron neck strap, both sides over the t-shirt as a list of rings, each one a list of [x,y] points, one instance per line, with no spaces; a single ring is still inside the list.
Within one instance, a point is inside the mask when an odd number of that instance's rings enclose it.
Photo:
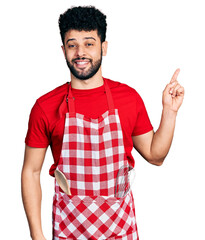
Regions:
[[[108,102],[108,108],[109,110],[114,110],[114,102],[113,102],[113,98],[112,98],[112,94],[110,91],[110,88],[108,86],[107,80],[104,79],[104,87],[105,87],[105,94],[107,97],[107,102]],[[68,109],[70,113],[75,113],[75,98],[73,97],[72,94],[72,87],[71,87],[71,83],[69,83],[68,85],[68,95],[67,95],[67,103],[68,103]]]

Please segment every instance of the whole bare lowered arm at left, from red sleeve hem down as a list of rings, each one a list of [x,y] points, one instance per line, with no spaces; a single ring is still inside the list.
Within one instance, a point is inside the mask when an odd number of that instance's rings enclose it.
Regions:
[[[45,240],[41,227],[40,172],[46,148],[26,146],[21,175],[22,199],[33,240]]]

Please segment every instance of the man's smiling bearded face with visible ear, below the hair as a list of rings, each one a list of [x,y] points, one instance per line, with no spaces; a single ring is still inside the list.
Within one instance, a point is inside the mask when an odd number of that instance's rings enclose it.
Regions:
[[[101,43],[97,30],[70,30],[65,35],[62,48],[71,74],[77,79],[87,80],[100,69],[107,42]]]

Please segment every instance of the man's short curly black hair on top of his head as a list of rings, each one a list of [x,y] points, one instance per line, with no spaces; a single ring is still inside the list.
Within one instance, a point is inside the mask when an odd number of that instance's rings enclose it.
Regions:
[[[93,6],[72,7],[60,15],[58,20],[60,35],[64,44],[65,34],[69,30],[97,30],[101,42],[106,38],[106,15]]]

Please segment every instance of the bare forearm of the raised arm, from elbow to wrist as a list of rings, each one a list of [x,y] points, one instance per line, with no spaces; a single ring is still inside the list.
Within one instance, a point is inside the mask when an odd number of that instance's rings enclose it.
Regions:
[[[174,136],[177,112],[164,108],[158,130],[151,143],[153,163],[161,165],[169,152]]]

